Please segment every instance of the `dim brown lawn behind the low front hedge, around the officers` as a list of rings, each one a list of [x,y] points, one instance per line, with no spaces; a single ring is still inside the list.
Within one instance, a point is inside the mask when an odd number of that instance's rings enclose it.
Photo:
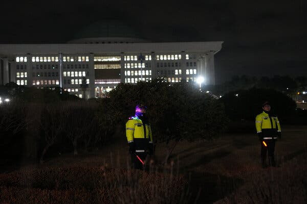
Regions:
[[[34,167],[99,167],[107,163],[109,166],[126,168],[129,156],[125,138],[117,138],[116,141],[102,150],[78,156],[61,154]],[[306,126],[283,126],[282,139],[276,143],[275,155],[279,167],[275,169],[282,169],[293,161],[299,162],[306,158],[306,143]],[[156,157],[153,159],[158,165],[163,163],[165,151],[165,144],[157,145]],[[255,134],[225,133],[214,141],[179,143],[170,161],[173,162],[174,172],[184,174],[189,180],[190,188],[186,193],[190,200],[197,198],[196,203],[213,203],[248,183],[252,175],[274,171],[272,167],[261,168],[259,152],[260,144]]]

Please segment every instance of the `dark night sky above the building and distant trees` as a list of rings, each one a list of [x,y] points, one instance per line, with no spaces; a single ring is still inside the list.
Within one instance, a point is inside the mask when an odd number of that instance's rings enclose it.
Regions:
[[[291,1],[5,1],[0,43],[63,43],[117,19],[153,42],[224,41],[216,81],[232,75],[307,75],[307,3]]]

